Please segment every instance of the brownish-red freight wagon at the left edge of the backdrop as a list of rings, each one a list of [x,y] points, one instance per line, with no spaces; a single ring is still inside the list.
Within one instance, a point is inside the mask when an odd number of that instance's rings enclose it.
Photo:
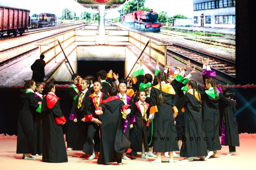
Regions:
[[[22,35],[30,24],[29,12],[27,9],[0,6],[0,36],[5,33]]]

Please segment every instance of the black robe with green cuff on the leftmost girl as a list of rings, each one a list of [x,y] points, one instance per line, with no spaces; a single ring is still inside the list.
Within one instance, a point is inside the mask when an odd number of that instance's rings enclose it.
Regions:
[[[35,138],[36,119],[33,114],[41,113],[41,104],[35,97],[35,93],[27,91],[20,95],[21,110],[18,117],[17,151],[16,153],[36,153]]]

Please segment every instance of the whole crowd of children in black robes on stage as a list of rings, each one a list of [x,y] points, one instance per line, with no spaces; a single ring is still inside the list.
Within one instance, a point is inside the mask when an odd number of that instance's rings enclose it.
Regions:
[[[140,70],[130,77],[130,88],[112,70],[99,71],[97,81],[91,75],[72,75],[66,118],[54,83],[47,82],[43,88],[42,83],[28,80],[21,90],[17,153],[23,159],[35,159],[29,154],[42,155],[43,162],[61,163],[68,162],[67,151],[73,149],[85,153],[80,158],[98,158],[97,163],[106,165],[136,159],[137,152],[144,159],[156,158],[152,163],[161,163],[161,153],[172,163],[175,151],[180,151],[185,162],[193,157],[205,160],[214,157],[221,145],[229,146],[228,155],[234,154],[239,146],[235,93],[216,87],[209,59],[202,58],[205,87],[189,80],[197,73],[195,66],[185,76],[192,67],[190,61],[184,70],[183,65],[174,65],[173,73],[170,62],[161,71],[158,57],[154,59],[154,80],[151,74],[144,75],[142,56]],[[221,121],[219,100],[225,104]],[[61,126],[65,123],[67,150]]]

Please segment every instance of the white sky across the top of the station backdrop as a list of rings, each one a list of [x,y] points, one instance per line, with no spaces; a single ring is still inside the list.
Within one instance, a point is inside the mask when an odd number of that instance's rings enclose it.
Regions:
[[[61,17],[64,8],[75,11],[77,16],[84,11],[96,12],[95,10],[83,8],[74,0],[0,0],[0,5],[29,9],[30,15],[46,12],[56,14],[57,17]],[[188,18],[193,17],[192,0],[146,0],[145,7],[153,8],[155,12],[166,11],[170,17],[176,14],[185,15]],[[117,10],[118,8],[107,10],[106,18],[118,17],[119,12]]]

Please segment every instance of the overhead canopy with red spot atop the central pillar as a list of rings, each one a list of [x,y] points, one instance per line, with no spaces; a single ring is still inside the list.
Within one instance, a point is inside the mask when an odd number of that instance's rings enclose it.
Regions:
[[[106,5],[105,10],[118,8],[129,0],[75,0],[85,8],[99,10],[99,5]]]

